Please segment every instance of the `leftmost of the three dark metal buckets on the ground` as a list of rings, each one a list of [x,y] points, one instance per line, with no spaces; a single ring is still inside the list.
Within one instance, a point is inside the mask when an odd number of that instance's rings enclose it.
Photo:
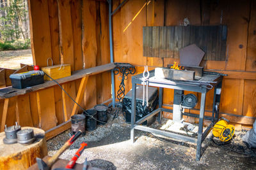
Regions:
[[[72,134],[76,134],[77,131],[82,131],[82,135],[85,134],[85,116],[74,115],[71,117],[71,131]]]

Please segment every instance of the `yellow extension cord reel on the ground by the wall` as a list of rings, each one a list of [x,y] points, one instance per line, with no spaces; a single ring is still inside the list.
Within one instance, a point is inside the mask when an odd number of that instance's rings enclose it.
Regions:
[[[220,139],[220,141],[226,142],[232,139],[235,133],[234,125],[228,124],[227,118],[221,117],[220,120],[212,127],[213,136]]]

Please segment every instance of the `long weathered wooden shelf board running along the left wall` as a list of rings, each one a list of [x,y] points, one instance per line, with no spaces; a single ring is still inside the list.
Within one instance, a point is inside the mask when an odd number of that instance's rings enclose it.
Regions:
[[[65,77],[65,78],[60,78],[58,80],[56,80],[58,83],[66,83],[68,81],[74,81],[77,80],[79,78],[83,78],[84,76],[88,75],[88,76],[92,76],[95,74],[99,74],[99,73],[103,73],[105,71],[110,71],[111,69],[115,68],[116,65],[114,63],[109,63],[109,64],[105,64],[102,66],[97,66],[97,67],[90,67],[88,69],[81,69],[79,71],[74,71],[72,72],[71,76]],[[56,82],[54,81],[46,81],[43,84],[40,85],[35,85],[31,88],[26,88],[26,89],[13,89],[12,87],[6,87],[4,90],[10,90],[12,92],[10,93],[3,93],[0,90],[0,99],[5,99],[5,98],[10,98],[13,96],[19,96],[22,94],[26,94],[28,92],[34,92],[36,90],[41,90],[41,89],[45,89],[47,87],[52,87],[56,85]]]

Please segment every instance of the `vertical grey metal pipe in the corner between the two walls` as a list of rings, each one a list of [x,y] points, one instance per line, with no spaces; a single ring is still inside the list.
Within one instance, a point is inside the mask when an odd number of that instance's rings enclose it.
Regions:
[[[112,13],[112,0],[108,0],[110,62],[114,62],[111,13]],[[111,87],[112,87],[112,106],[115,108],[115,77],[114,77],[113,70],[111,71]]]

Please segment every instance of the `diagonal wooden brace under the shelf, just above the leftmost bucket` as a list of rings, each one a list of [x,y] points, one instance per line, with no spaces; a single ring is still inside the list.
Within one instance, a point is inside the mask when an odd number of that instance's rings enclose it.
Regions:
[[[81,80],[80,85],[79,85],[79,89],[78,89],[77,96],[76,96],[76,103],[78,103],[78,104],[80,104],[82,99],[83,99],[84,89],[86,87],[87,81],[88,81],[88,76],[84,76]],[[79,107],[77,106],[76,103],[74,103],[74,107],[73,107],[73,110],[72,110],[72,113],[71,113],[71,117],[73,115],[77,114],[77,111],[79,109]]]

